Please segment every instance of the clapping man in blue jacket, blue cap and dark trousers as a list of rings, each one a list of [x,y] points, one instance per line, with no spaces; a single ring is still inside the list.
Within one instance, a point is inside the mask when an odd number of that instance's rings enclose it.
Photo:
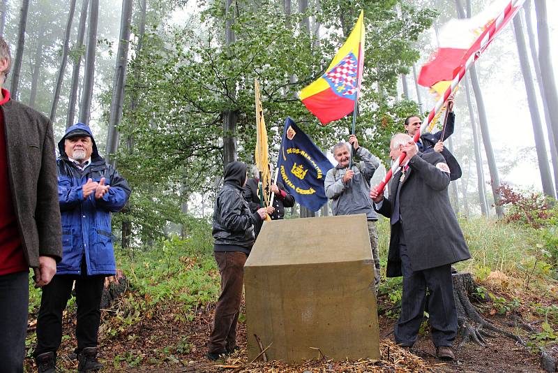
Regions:
[[[35,358],[40,373],[54,373],[62,339],[62,312],[75,281],[78,372],[100,370],[96,358],[100,300],[105,277],[116,273],[111,213],[130,197],[128,182],[98,153],[89,126],[71,126],[58,143],[58,198],[62,218],[62,261],[43,288],[37,319]]]

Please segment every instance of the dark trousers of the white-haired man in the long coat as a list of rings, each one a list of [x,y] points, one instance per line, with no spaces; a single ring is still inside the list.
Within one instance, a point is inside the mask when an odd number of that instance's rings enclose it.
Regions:
[[[398,225],[400,226],[400,224]],[[399,250],[403,273],[403,293],[401,314],[395,325],[395,342],[403,346],[412,346],[416,342],[418,330],[423,322],[426,289],[428,288],[430,292],[428,295],[428,323],[430,323],[432,342],[436,347],[451,346],[458,330],[451,265],[413,271],[402,230]]]

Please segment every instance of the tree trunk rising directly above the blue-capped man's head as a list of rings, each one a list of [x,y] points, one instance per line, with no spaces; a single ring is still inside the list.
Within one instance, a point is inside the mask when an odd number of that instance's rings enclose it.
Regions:
[[[89,27],[87,28],[87,52],[85,54],[85,71],[82,103],[80,104],[80,122],[89,124],[93,82],[95,81],[95,52],[97,49],[97,24],[99,0],[91,0],[89,5]]]

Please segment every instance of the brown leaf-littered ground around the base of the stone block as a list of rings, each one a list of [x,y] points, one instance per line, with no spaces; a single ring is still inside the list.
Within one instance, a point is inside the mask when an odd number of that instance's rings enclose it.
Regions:
[[[530,300],[522,300],[541,305],[540,297],[534,293],[530,295]],[[380,295],[378,302],[380,310],[391,308],[386,294]],[[556,299],[548,299],[548,302],[551,305]],[[240,350],[225,360],[214,363],[206,359],[206,341],[213,319],[214,303],[196,309],[190,320],[176,317],[180,307],[179,304],[167,303],[164,309],[145,315],[139,322],[128,326],[126,332],[114,336],[110,336],[107,326],[116,324],[114,318],[118,316],[113,316],[112,312],[103,312],[99,346],[99,358],[105,363],[102,372],[543,372],[540,354],[536,353],[536,349],[526,349],[506,337],[489,339],[485,347],[466,344],[455,349],[455,361],[443,363],[435,358],[435,349],[430,342],[428,330],[425,330],[421,332],[412,353],[409,353],[393,343],[395,315],[385,314],[379,317],[382,351],[382,360],[379,361],[335,363],[322,358],[301,365],[249,363],[246,353],[246,323],[241,317],[238,331]],[[480,307],[495,325],[510,332],[519,332],[525,340],[530,339],[525,331],[508,326],[517,316],[524,318],[530,314],[529,310],[519,307],[507,316],[502,316],[497,312],[494,302]],[[77,368],[73,355],[74,326],[75,312],[66,314],[63,331],[66,337],[63,338],[58,357],[61,372],[75,372]],[[541,330],[537,326],[535,328]],[[549,344],[547,351],[558,357],[557,344]],[[28,372],[36,370],[31,359],[27,359],[26,365]]]

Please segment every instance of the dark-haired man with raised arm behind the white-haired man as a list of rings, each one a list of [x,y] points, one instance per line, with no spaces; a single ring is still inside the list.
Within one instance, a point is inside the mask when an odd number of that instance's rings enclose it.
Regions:
[[[453,112],[453,96],[448,97],[446,103],[446,110],[448,110],[448,122],[446,123],[446,130],[444,133],[442,131],[437,131],[436,133],[421,133],[421,137],[418,138],[416,145],[418,146],[418,151],[421,153],[437,152],[441,153],[446,159],[446,163],[450,170],[449,178],[451,181],[458,180],[461,177],[462,171],[459,162],[455,159],[455,156],[444,147],[444,141],[453,134],[453,129],[455,128],[455,113]],[[405,119],[405,132],[407,135],[413,137],[415,132],[421,128],[421,119],[416,115],[411,115]],[[444,138],[442,139],[442,135]]]

